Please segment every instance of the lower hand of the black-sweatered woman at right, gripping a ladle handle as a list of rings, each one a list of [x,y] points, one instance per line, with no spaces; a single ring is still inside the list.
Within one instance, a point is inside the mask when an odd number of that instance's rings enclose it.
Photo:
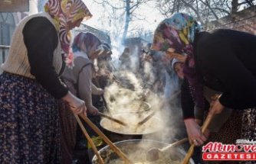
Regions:
[[[195,146],[202,145],[207,140],[207,137],[202,133],[199,124],[195,122],[194,118],[185,119],[184,122],[189,137],[189,143],[194,143]]]

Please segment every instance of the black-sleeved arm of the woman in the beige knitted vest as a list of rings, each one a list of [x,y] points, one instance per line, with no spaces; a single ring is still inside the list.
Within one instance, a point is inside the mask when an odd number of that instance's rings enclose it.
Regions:
[[[25,24],[22,32],[31,74],[55,98],[67,95],[67,88],[61,84],[52,65],[53,53],[58,43],[54,25],[47,18],[33,18]]]

